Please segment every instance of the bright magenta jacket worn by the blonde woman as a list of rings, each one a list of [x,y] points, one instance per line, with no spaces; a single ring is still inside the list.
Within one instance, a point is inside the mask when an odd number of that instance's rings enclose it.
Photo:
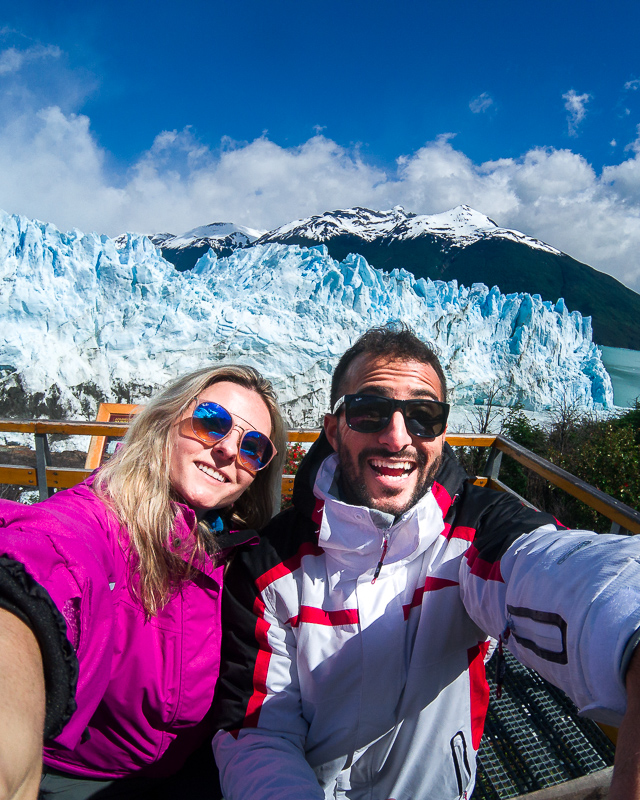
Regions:
[[[147,621],[128,585],[126,532],[86,482],[33,506],[0,501],[0,518],[0,555],[48,591],[79,662],[77,710],[45,763],[96,778],[175,772],[211,733],[222,566],[205,557]],[[183,507],[175,535],[193,523]]]

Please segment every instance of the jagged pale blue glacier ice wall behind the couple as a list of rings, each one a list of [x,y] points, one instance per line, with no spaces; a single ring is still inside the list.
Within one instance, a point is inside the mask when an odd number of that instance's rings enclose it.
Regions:
[[[290,425],[316,427],[332,370],[364,330],[409,324],[440,354],[454,404],[613,406],[591,321],[563,300],[385,273],[324,245],[265,244],[179,272],[143,235],[60,232],[0,212],[0,413],[95,417],[204,363],[273,382]]]

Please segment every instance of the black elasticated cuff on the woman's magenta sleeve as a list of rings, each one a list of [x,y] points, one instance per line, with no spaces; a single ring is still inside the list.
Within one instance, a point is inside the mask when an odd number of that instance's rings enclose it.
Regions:
[[[7,557],[0,557],[0,607],[28,625],[38,640],[46,688],[44,738],[54,739],[76,710],[78,659],[64,617],[24,565]]]

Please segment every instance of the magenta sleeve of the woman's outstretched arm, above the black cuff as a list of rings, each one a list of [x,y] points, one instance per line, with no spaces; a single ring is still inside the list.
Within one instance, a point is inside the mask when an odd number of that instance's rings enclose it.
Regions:
[[[33,630],[43,656],[45,738],[72,749],[111,671],[113,555],[100,501],[85,490],[44,503],[0,502],[0,604]],[[66,496],[65,496],[66,495]]]

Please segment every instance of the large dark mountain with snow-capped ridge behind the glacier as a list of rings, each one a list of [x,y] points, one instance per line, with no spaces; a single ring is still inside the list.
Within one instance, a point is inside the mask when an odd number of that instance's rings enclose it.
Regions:
[[[504,294],[539,294],[552,302],[564,297],[568,308],[592,318],[598,344],[640,350],[640,295],[555,247],[500,228],[468,206],[433,215],[400,207],[343,209],[283,225],[256,244],[269,242],[326,244],[338,261],[359,253],[387,272],[402,268],[416,278],[485,283]]]

